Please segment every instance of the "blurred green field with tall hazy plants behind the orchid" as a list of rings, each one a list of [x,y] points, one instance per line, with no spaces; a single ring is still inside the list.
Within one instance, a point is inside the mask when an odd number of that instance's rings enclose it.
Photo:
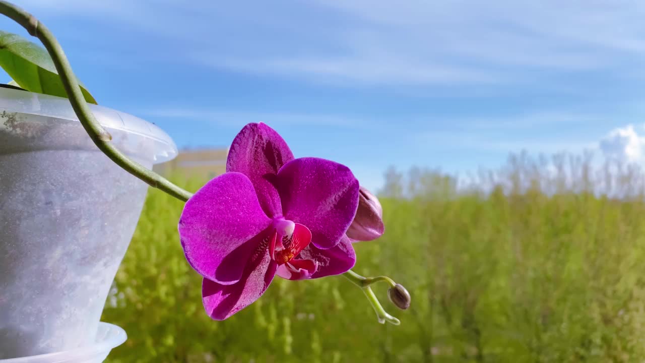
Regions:
[[[129,336],[108,361],[642,362],[644,178],[591,165],[515,156],[468,189],[438,172],[390,170],[386,233],[355,245],[354,270],[408,287],[408,311],[375,287],[401,326],[378,324],[342,276],[276,278],[252,306],[210,320],[177,236],[183,203],[152,190],[104,310]]]

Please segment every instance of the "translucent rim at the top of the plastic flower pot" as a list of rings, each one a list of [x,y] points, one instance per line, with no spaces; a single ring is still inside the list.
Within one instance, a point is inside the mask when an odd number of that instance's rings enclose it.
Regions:
[[[152,160],[155,164],[172,160],[177,156],[175,142],[154,123],[108,107],[93,104],[89,106],[96,120],[106,129],[136,134],[154,141],[155,150]],[[0,87],[0,112],[2,111],[80,123],[69,99],[15,88]]]

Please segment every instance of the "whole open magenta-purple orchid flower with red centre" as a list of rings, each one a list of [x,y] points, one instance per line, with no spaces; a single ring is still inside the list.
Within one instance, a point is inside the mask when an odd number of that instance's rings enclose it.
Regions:
[[[283,138],[250,123],[230,147],[226,172],[184,206],[179,235],[203,276],[204,308],[224,320],[259,298],[275,275],[339,275],[356,262],[346,231],[359,206],[348,167],[294,159]]]

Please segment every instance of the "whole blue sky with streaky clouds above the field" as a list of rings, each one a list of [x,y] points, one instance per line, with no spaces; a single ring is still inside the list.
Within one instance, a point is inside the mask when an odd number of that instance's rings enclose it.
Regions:
[[[345,163],[370,189],[389,165],[645,154],[642,1],[16,3],[54,32],[101,105],[157,123],[179,147],[228,146],[263,121],[296,156]]]

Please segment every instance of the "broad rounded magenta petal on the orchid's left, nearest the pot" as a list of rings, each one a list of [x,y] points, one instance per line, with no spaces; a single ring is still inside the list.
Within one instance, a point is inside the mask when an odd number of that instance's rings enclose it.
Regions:
[[[270,223],[250,180],[239,172],[226,172],[186,202],[179,237],[186,260],[197,273],[228,285],[242,277]]]

